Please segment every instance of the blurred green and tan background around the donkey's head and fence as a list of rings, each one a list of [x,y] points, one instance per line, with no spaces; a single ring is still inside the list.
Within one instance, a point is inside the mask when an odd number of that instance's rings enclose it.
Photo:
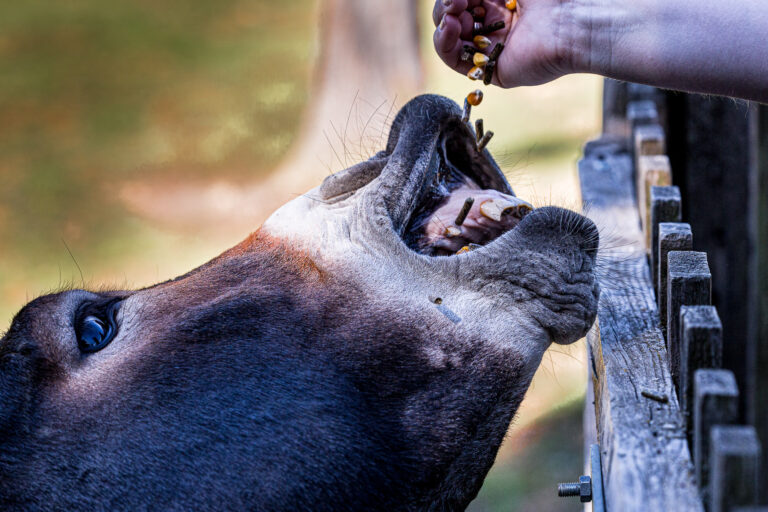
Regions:
[[[429,0],[0,4],[0,330],[69,286],[179,275],[383,147],[413,95],[476,83],[432,50]],[[579,208],[600,80],[486,88],[473,118],[518,195]],[[544,357],[470,510],[577,510],[582,342]]]

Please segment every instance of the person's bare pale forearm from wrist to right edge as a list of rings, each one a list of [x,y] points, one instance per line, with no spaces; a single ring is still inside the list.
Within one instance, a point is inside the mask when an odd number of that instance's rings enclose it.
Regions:
[[[574,0],[576,71],[768,102],[768,1]]]

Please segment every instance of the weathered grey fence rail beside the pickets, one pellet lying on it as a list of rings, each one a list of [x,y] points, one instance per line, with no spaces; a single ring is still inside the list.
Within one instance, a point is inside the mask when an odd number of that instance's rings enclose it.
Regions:
[[[632,159],[616,148],[593,142],[579,162],[589,216],[623,236],[600,256],[598,323],[587,335],[605,505],[626,512],[703,510],[642,250]]]

